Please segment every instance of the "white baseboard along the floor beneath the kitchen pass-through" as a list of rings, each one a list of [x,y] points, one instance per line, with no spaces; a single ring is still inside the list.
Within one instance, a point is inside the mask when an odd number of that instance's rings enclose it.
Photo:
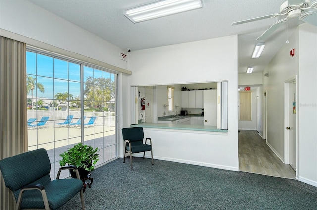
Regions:
[[[140,155],[136,154],[133,156],[143,157],[142,154],[140,154]],[[146,155],[145,158],[151,158],[151,156]],[[218,169],[223,169],[223,170],[239,171],[238,167],[231,167],[231,166],[226,166],[226,165],[217,165],[217,164],[211,164],[211,163],[206,163],[206,162],[197,162],[197,161],[191,161],[191,160],[176,159],[176,158],[169,158],[169,157],[158,157],[158,156],[154,156],[153,159],[159,159],[159,160],[170,161],[170,162],[185,163],[185,164],[190,164],[190,165],[199,165],[199,166],[218,168]]]

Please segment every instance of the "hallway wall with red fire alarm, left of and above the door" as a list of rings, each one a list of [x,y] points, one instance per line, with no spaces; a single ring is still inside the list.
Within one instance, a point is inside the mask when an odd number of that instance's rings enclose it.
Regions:
[[[289,41],[277,52],[263,72],[263,74],[269,73],[269,77],[263,78],[267,105],[266,142],[282,161],[284,161],[285,130],[284,81],[298,74],[299,53],[296,52],[294,57],[290,56],[293,48],[298,49],[298,30],[289,37]]]

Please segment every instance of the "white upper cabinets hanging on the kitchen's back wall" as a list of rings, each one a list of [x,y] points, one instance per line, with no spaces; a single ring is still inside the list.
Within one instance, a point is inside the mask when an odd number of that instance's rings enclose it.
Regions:
[[[204,97],[203,91],[182,91],[182,107],[183,108],[203,108]]]

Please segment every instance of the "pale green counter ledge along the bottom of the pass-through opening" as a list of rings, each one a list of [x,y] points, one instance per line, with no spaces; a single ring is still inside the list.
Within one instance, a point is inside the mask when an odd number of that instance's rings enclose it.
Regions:
[[[139,127],[139,126],[144,128],[159,128],[159,129],[173,129],[173,130],[193,130],[193,131],[207,131],[207,132],[221,132],[221,133],[228,132],[228,130],[217,129],[217,126],[207,126],[207,125],[164,124],[164,123],[146,123],[146,122],[131,125],[131,127]]]

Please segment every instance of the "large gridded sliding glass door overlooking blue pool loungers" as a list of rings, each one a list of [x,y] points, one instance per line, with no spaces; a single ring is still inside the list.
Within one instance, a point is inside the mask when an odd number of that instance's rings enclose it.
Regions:
[[[97,165],[118,157],[117,74],[32,49],[26,59],[28,150],[48,151],[51,178],[79,142],[99,148]]]

